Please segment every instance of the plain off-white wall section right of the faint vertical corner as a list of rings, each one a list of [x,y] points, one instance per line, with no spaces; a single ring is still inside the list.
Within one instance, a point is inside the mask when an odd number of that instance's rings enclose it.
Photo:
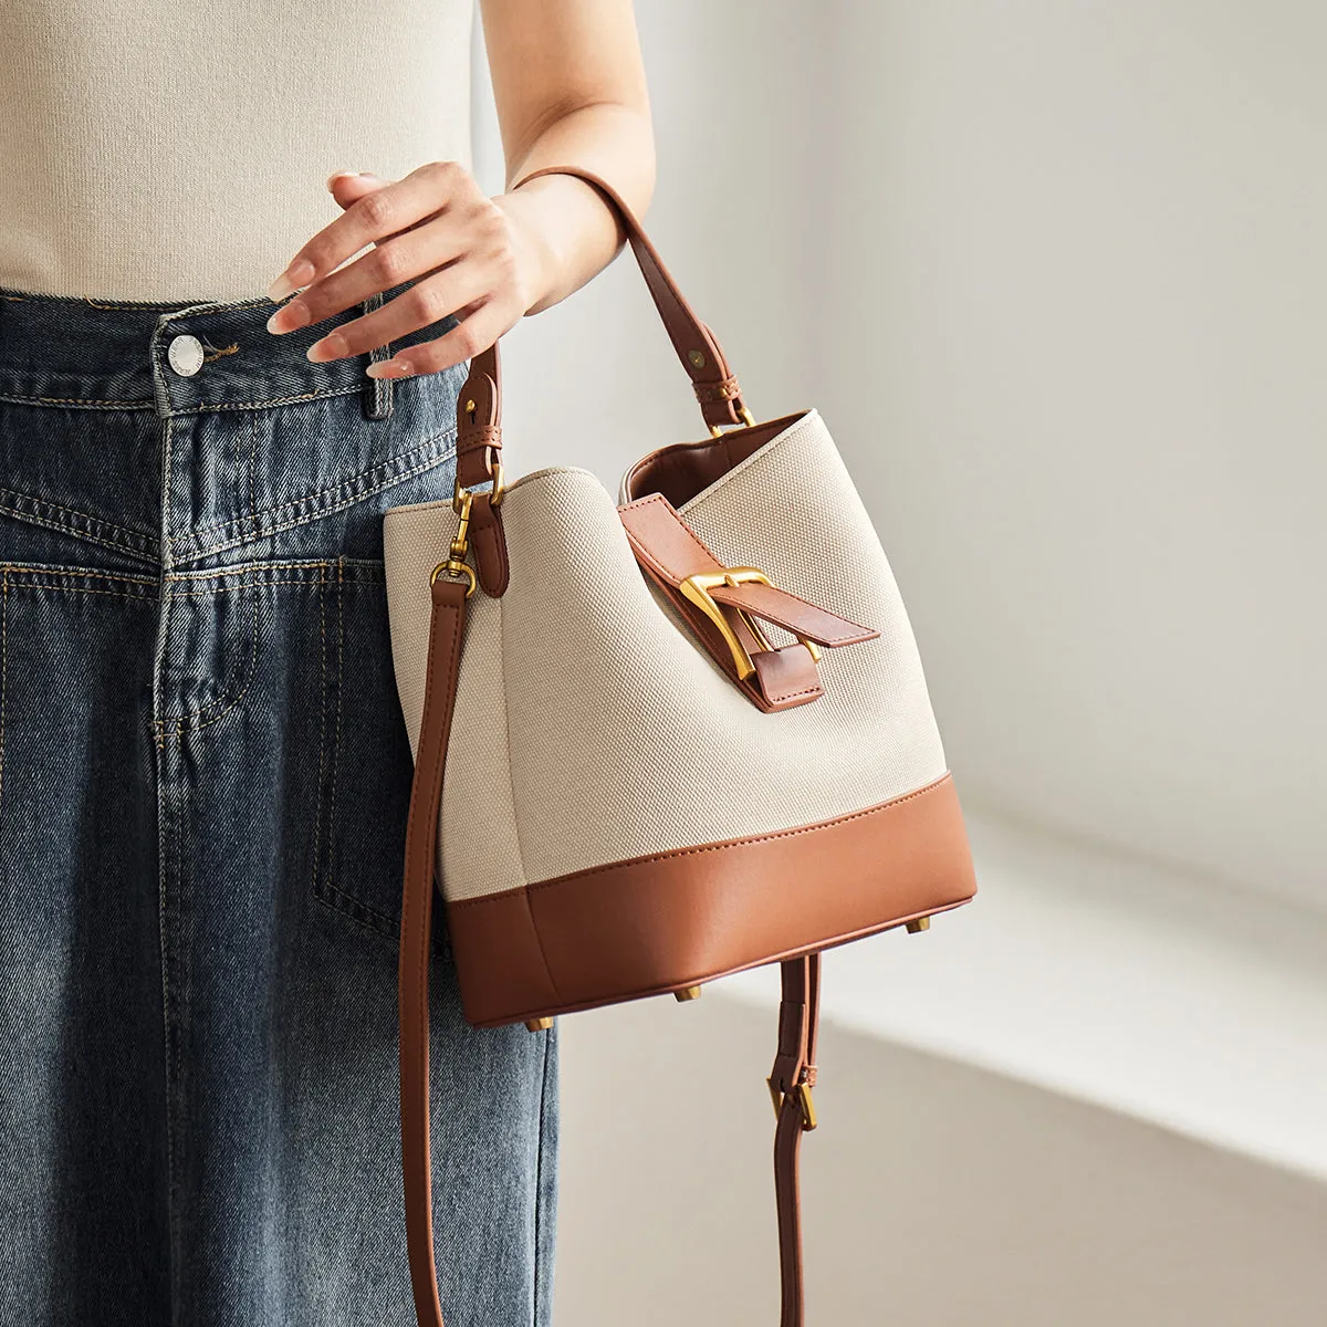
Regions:
[[[963,786],[1327,905],[1327,9],[831,8],[828,394]]]

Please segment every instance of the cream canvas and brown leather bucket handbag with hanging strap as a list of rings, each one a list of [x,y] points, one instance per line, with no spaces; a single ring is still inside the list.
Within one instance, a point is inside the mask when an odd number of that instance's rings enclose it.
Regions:
[[[782,965],[782,1327],[802,1327],[799,1151],[820,953],[925,930],[977,889],[913,632],[812,407],[758,422],[640,222],[616,208],[709,437],[508,483],[498,346],[456,402],[456,486],[391,507],[393,667],[414,756],[401,1143],[421,1327],[442,1327],[429,1166],[429,938],[441,889],[464,1016],[524,1022]],[[518,186],[512,186],[514,188]]]

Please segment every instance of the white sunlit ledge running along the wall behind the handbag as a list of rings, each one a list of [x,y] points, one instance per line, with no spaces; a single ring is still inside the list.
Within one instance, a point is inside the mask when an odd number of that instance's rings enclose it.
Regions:
[[[1327,917],[967,823],[977,898],[827,951],[824,1018],[1327,1180]],[[778,966],[721,989],[772,1003]]]

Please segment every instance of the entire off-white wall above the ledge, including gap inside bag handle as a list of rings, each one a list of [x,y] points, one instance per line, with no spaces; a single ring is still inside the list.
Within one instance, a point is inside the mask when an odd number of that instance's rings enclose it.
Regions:
[[[637,9],[646,227],[833,429],[966,798],[1327,906],[1327,9]],[[701,435],[629,255],[525,322],[518,463]]]

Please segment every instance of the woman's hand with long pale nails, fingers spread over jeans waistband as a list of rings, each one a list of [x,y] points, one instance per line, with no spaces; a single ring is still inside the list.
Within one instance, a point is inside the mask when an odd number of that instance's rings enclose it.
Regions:
[[[402,281],[414,285],[314,341],[311,360],[365,354],[455,313],[463,321],[450,332],[368,369],[376,378],[438,373],[492,345],[547,288],[551,255],[539,232],[484,194],[459,162],[429,162],[395,182],[338,173],[328,188],[345,211],[272,283],[272,300],[300,293],[272,314],[268,330],[293,332]],[[346,263],[368,244],[374,247]]]

